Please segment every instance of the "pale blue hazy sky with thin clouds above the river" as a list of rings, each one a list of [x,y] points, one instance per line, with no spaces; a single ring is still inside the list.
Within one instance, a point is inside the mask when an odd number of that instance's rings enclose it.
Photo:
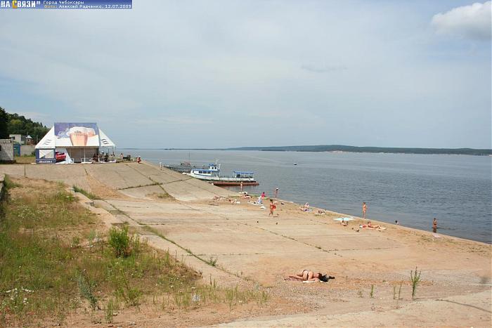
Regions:
[[[0,106],[118,147],[491,148],[491,1],[0,10]]]

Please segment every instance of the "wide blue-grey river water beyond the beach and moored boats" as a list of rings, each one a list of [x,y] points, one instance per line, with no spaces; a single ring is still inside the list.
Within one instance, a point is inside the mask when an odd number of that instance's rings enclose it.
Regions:
[[[369,154],[350,152],[261,152],[220,150],[122,150],[163,164],[207,164],[221,173],[254,171],[259,186],[245,191],[367,217],[421,230],[432,218],[444,235],[492,243],[492,157]],[[297,163],[297,165],[294,165]],[[239,188],[233,188],[239,190]]]

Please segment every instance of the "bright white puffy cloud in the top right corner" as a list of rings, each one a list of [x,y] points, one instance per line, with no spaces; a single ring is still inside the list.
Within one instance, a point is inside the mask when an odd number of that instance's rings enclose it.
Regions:
[[[491,39],[491,1],[451,9],[432,17],[432,25],[439,34],[450,34],[467,39]]]

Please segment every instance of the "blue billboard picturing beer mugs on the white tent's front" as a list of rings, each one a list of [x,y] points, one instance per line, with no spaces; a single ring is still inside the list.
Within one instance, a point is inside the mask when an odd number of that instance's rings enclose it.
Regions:
[[[99,147],[96,123],[55,123],[57,147]]]

